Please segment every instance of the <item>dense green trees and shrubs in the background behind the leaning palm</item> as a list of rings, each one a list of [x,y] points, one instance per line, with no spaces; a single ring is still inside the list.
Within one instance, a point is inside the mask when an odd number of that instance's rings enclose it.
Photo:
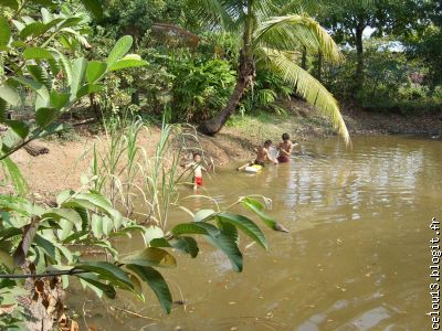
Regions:
[[[101,25],[94,23],[97,33],[94,54],[98,50],[104,54],[122,33],[129,33],[137,41],[137,51],[151,64],[148,68],[122,74],[124,77],[116,81],[120,82],[118,90],[126,90],[126,95],[115,99],[125,106],[135,105],[134,109],[144,117],[161,118],[162,111],[168,109],[171,119],[197,124],[223,109],[225,97],[235,85],[231,75],[238,77],[239,73],[241,20],[230,26],[232,29],[219,24],[223,12],[208,14],[203,7],[196,6],[198,1],[130,2],[106,1],[104,21]],[[404,113],[420,111],[415,103],[419,99],[425,110],[439,108],[439,1],[367,0],[347,1],[346,6],[343,1],[271,2],[277,2],[277,10],[273,4],[257,7],[260,20],[261,11],[265,15],[267,12],[275,15],[307,13],[326,26],[341,46],[345,56],[338,64],[330,63],[308,45],[308,50],[303,49],[302,43],[293,53],[294,63],[307,68],[339,102],[350,100],[366,109]],[[224,21],[232,23],[227,17]],[[204,82],[191,75],[183,78],[185,73],[194,71],[197,76],[204,73],[212,61],[225,62],[217,67],[218,82],[212,82],[213,72],[204,75]],[[239,111],[283,113],[281,100],[297,95],[293,85],[270,72],[257,64],[253,86],[245,88]],[[277,83],[271,84],[270,76]],[[116,106],[115,109],[122,105],[112,106]]]

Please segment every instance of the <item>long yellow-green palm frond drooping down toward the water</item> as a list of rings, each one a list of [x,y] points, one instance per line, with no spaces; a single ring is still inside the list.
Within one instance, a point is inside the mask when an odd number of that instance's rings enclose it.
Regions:
[[[309,73],[296,65],[285,52],[262,49],[267,65],[282,78],[292,84],[295,90],[311,105],[318,107],[332,121],[347,145],[350,143],[347,127],[334,96]]]

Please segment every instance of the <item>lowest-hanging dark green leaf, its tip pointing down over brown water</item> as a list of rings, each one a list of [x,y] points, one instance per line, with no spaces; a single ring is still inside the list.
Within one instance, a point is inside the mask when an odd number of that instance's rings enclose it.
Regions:
[[[138,265],[127,265],[127,268],[149,285],[157,296],[162,309],[169,313],[172,307],[172,296],[169,286],[165,278],[162,278],[161,274],[151,267],[143,267]]]

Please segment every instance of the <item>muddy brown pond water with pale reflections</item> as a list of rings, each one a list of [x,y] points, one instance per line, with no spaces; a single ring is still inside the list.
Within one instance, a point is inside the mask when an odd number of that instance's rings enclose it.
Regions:
[[[166,316],[146,289],[147,302],[119,295],[112,310],[75,290],[77,320],[105,330],[430,330],[429,228],[442,217],[442,141],[413,137],[354,138],[303,143],[288,164],[256,175],[224,169],[204,178],[220,204],[264,194],[272,216],[290,234],[265,231],[269,252],[246,248],[244,271],[204,244],[178,268],[164,270],[173,299]],[[182,191],[181,195],[190,194]],[[190,209],[211,207],[203,199]],[[171,222],[189,221],[173,212]],[[242,237],[241,247],[249,244]],[[122,249],[141,248],[138,239]],[[73,299],[74,298],[74,299]],[[83,300],[87,298],[83,306]],[[76,302],[74,302],[76,301]],[[106,301],[107,302],[107,301]],[[83,319],[82,310],[86,312]]]

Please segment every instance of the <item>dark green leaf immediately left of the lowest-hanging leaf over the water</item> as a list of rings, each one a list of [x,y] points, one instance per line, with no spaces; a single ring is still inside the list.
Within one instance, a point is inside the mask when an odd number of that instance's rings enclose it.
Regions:
[[[106,261],[82,261],[75,269],[98,274],[99,278],[125,289],[134,288],[128,275],[122,268]]]

